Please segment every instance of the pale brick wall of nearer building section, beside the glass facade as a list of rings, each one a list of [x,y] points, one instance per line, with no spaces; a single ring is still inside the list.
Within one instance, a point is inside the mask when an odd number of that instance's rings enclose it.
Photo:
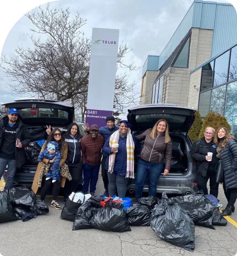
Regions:
[[[213,30],[192,28],[188,68],[170,67],[164,73],[162,102],[197,108],[201,74],[190,74],[211,58]]]

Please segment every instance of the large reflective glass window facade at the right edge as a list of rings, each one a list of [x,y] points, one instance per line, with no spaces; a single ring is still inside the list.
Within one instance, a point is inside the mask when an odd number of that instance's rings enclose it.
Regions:
[[[202,67],[198,109],[225,116],[237,137],[237,45]]]

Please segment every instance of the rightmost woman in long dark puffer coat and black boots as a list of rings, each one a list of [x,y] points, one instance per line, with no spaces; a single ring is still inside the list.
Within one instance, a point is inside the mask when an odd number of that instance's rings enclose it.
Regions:
[[[216,157],[221,159],[223,166],[223,189],[228,201],[222,215],[228,216],[235,211],[234,205],[237,199],[237,141],[225,127],[219,127],[214,143],[217,146]]]

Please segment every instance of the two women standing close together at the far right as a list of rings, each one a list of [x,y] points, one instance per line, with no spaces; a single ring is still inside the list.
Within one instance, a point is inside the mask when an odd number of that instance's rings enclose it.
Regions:
[[[209,156],[208,153],[212,153]],[[210,194],[218,198],[216,172],[223,169],[223,189],[228,201],[222,215],[228,216],[235,212],[237,199],[237,140],[230,135],[225,127],[216,131],[207,127],[204,137],[196,140],[190,150],[190,155],[197,161],[197,186],[204,194],[208,194],[207,182],[210,182]],[[221,161],[220,161],[221,160]],[[221,167],[218,166],[221,164]]]

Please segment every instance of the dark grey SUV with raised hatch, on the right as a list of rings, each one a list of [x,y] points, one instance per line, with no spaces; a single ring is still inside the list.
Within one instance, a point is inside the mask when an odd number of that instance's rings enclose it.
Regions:
[[[195,112],[195,109],[170,104],[150,104],[128,109],[127,118],[134,135],[139,135],[146,129],[152,128],[159,119],[165,119],[169,123],[172,140],[171,169],[167,176],[163,176],[162,173],[158,179],[157,193],[189,194],[198,191],[197,164],[189,154],[192,142],[188,137],[188,130],[195,119]],[[136,156],[135,179],[130,179],[127,186],[130,193],[135,190],[138,159]],[[148,179],[146,179],[143,191],[148,192]]]

